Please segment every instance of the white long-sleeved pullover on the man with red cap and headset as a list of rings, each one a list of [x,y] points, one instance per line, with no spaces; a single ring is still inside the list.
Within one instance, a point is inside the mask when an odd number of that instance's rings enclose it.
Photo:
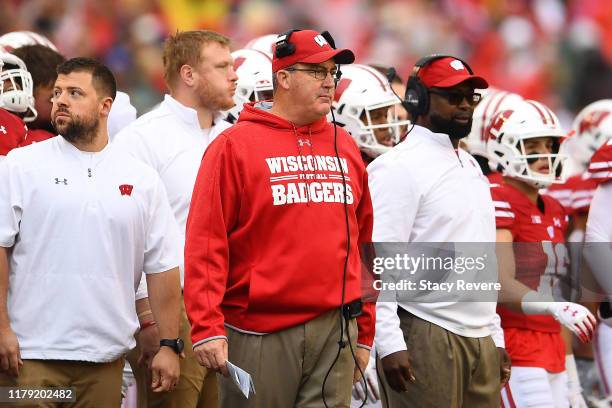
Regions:
[[[495,242],[494,206],[478,163],[455,151],[446,134],[414,126],[407,138],[368,166],[374,242]],[[496,271],[495,262],[495,271]],[[406,344],[397,302],[376,305],[381,357]],[[491,335],[503,345],[495,302],[399,303],[410,313],[465,337]]]

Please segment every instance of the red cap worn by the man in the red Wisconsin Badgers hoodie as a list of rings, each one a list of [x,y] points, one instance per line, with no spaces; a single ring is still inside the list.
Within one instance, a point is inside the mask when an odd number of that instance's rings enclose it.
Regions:
[[[280,37],[279,37],[280,39]],[[272,72],[277,72],[298,62],[318,64],[333,58],[336,64],[352,64],[355,54],[349,49],[334,49],[321,34],[313,30],[294,31],[289,42],[295,52],[286,57],[276,56],[276,44],[272,46]]]

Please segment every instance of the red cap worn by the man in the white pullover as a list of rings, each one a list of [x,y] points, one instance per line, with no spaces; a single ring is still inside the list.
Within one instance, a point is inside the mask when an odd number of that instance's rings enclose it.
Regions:
[[[421,68],[417,75],[428,88],[450,88],[465,81],[470,81],[474,88],[489,87],[483,77],[470,74],[465,64],[453,57],[434,60]]]

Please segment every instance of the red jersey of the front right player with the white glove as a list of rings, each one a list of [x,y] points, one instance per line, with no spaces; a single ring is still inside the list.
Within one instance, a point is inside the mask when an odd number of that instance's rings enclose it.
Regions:
[[[516,279],[541,293],[558,291],[559,279],[567,275],[569,266],[565,246],[568,217],[561,204],[550,196],[540,196],[541,211],[506,183],[492,184],[491,196],[497,228],[509,230],[514,239]],[[503,306],[497,312],[514,365],[550,372],[565,369],[561,326],[552,316],[526,315]]]

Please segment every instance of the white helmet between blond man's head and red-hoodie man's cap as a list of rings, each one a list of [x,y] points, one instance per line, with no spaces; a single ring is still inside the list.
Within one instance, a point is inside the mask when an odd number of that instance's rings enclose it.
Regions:
[[[234,51],[232,57],[238,76],[234,92],[236,105],[225,114],[228,122],[235,123],[245,103],[272,99],[272,57],[251,49]]]

